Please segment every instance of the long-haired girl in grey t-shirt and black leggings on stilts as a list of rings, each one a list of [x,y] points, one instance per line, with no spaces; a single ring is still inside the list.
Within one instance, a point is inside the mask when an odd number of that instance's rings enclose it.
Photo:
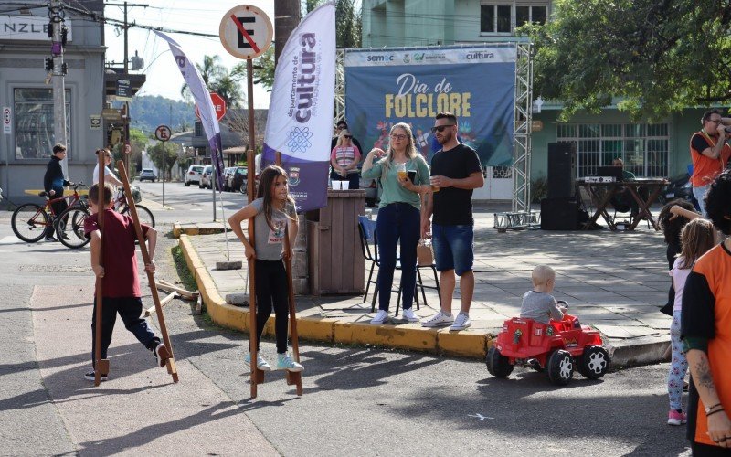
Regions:
[[[246,207],[239,209],[228,218],[231,227],[241,244],[244,245],[249,268],[255,268],[256,276],[256,312],[257,342],[261,340],[264,325],[274,308],[274,334],[277,339],[277,369],[302,371],[302,365],[291,359],[287,353],[287,324],[289,318],[289,282],[282,258],[291,259],[292,246],[297,239],[297,214],[294,200],[289,194],[288,177],[283,168],[270,165],[261,172],[257,199]],[[254,246],[244,235],[241,222],[254,219]],[[284,236],[289,230],[290,250],[284,252]],[[260,345],[257,345],[260,347]],[[250,366],[251,353],[248,352],[244,363]],[[262,371],[270,371],[271,366],[257,354],[257,367]]]

